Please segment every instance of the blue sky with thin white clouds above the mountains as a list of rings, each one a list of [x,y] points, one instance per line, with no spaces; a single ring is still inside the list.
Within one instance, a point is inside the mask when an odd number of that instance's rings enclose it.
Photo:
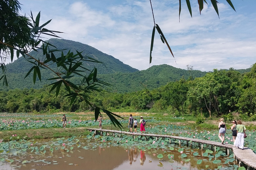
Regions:
[[[20,14],[35,17],[45,27],[61,31],[63,39],[88,44],[136,69],[168,64],[177,68],[212,71],[244,69],[256,62],[256,1],[219,0],[219,17],[210,0],[199,13],[191,0],[192,18],[182,0],[179,21],[177,0],[152,0],[155,23],[161,28],[175,59],[155,33],[149,64],[154,21],[149,0],[20,0]],[[40,24],[39,24],[40,25]]]

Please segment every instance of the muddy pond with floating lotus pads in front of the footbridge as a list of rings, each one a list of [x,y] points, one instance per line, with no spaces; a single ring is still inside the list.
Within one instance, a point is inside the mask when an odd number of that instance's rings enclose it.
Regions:
[[[4,169],[237,169],[225,149],[200,150],[198,144],[178,147],[175,141],[122,135],[12,140],[0,143],[0,166]],[[208,148],[209,147],[209,148]]]

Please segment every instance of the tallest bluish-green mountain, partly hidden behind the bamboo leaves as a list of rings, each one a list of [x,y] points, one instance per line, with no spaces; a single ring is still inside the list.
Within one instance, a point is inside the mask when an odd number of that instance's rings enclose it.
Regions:
[[[64,40],[64,39],[50,39],[49,42],[56,46],[58,49],[70,49],[71,52],[82,52],[82,55],[86,55],[92,58],[95,58],[104,64],[101,63],[94,63],[94,62],[86,62],[83,63],[86,68],[92,70],[94,67],[97,68],[98,74],[110,74],[110,73],[125,73],[125,72],[135,72],[138,71],[135,68],[132,68],[131,66],[124,64],[120,60],[114,58],[111,55],[105,54],[96,48],[80,43],[80,42],[74,42],[70,40]],[[64,50],[64,54],[68,52],[68,50]],[[44,60],[42,56],[42,50],[31,51],[29,54],[35,58],[39,58],[41,61]],[[60,56],[60,52],[55,52],[55,56]],[[13,63],[7,64],[6,68],[6,75],[8,80],[8,88],[3,87],[4,89],[14,89],[14,88],[42,88],[44,84],[49,83],[47,79],[54,77],[53,73],[51,71],[41,69],[41,75],[42,75],[42,82],[37,81],[34,85],[32,82],[32,75],[31,73],[25,80],[24,77],[27,74],[27,72],[30,70],[30,68],[33,66],[32,63],[29,63],[24,59],[24,57],[20,57],[17,60],[15,60]],[[57,70],[56,65],[50,65],[50,68]],[[1,75],[1,73],[0,73]],[[53,82],[53,81],[52,81]]]

